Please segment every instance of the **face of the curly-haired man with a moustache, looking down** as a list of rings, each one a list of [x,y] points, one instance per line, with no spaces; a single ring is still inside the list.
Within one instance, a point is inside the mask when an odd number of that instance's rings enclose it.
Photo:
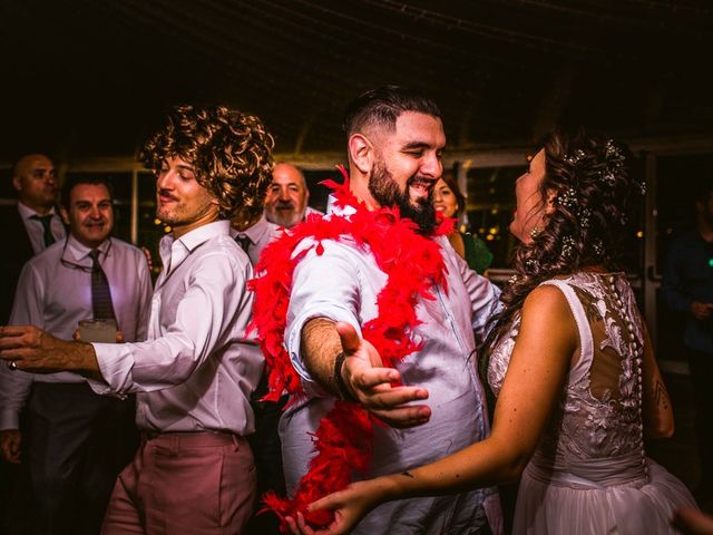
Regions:
[[[193,165],[180,157],[162,163],[156,178],[156,217],[173,226],[175,237],[218,218],[217,200],[198,184]]]

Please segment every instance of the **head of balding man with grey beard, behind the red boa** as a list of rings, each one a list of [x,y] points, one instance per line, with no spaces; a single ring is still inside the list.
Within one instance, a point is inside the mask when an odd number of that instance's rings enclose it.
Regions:
[[[280,163],[272,172],[272,183],[265,197],[265,217],[271,223],[291,228],[312,212],[307,207],[310,191],[304,175],[294,165]]]

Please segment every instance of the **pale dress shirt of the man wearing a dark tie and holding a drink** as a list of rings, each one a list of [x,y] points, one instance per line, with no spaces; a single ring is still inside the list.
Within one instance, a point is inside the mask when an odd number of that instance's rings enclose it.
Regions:
[[[146,256],[116,239],[97,249],[124,339],[144,340],[152,296]],[[25,264],[10,324],[37,325],[56,338],[71,340],[79,321],[92,317],[90,251],[70,235]],[[84,382],[85,378],[68,371],[36,374],[0,367],[0,429],[18,429],[18,416],[32,381]]]

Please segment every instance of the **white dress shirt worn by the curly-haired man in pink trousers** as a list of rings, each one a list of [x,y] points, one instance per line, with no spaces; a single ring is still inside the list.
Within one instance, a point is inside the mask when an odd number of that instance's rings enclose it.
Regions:
[[[219,221],[160,242],[164,271],[146,342],[95,343],[98,393],[137,392],[136,424],[154,431],[253,431],[250,395],[263,357],[248,339],[247,255]]]

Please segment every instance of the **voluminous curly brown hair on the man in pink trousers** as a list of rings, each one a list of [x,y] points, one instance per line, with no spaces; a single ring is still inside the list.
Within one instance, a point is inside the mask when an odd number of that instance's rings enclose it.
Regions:
[[[250,221],[263,210],[273,146],[273,137],[254,115],[224,106],[176,106],[138,158],[156,174],[166,158],[185,159],[194,166],[198,184],[217,198],[221,218],[240,212]]]

